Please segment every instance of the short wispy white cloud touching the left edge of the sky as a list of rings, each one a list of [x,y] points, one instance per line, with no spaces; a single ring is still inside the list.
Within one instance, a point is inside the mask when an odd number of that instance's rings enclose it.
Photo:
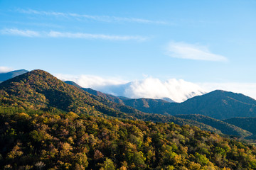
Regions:
[[[23,37],[39,37],[41,36],[40,33],[33,31],[33,30],[18,30],[18,29],[3,29],[0,30],[1,34],[4,35],[18,35]]]

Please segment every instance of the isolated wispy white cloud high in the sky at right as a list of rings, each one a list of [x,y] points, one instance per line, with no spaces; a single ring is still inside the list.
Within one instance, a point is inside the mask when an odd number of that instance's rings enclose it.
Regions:
[[[170,42],[166,48],[166,55],[189,60],[228,61],[226,57],[210,52],[206,46],[191,45],[184,42]]]

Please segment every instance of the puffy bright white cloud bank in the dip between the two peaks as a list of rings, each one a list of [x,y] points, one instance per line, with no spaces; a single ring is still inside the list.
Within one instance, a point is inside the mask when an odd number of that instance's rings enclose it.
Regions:
[[[171,98],[173,101],[182,102],[206,92],[200,86],[182,79],[161,81],[150,77],[143,80],[127,82],[88,75],[72,77],[72,75],[57,74],[56,77],[63,80],[75,81],[75,83],[85,88],[128,98]]]

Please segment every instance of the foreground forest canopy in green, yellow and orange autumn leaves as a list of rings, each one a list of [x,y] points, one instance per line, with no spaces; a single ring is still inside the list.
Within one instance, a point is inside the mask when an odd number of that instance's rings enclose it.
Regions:
[[[189,125],[1,113],[0,169],[256,169],[256,147]]]

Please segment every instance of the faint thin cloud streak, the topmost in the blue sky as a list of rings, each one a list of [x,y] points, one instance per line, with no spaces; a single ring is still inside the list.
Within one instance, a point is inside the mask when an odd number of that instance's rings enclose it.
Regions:
[[[150,23],[150,24],[167,24],[164,21],[153,21],[147,20],[143,18],[127,18],[127,17],[117,17],[117,16],[91,16],[79,13],[61,13],[54,11],[36,11],[33,9],[18,9],[20,13],[27,14],[36,14],[41,16],[55,16],[55,17],[65,17],[65,18],[75,18],[75,19],[87,19],[93,21],[101,21],[101,22],[129,22],[129,23]]]

